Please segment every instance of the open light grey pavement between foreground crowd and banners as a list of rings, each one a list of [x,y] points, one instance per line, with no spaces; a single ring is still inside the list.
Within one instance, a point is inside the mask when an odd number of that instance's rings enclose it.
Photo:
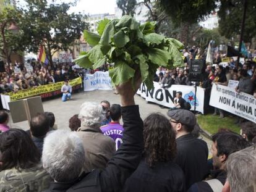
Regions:
[[[54,113],[56,124],[59,129],[68,129],[70,117],[74,114],[79,114],[80,106],[83,102],[90,101],[100,103],[102,100],[108,100],[111,104],[120,103],[119,96],[114,94],[113,91],[96,90],[75,93],[72,95],[72,99],[66,102],[62,102],[61,98],[43,101],[43,108],[44,111]],[[140,106],[140,115],[142,119],[145,119],[152,112],[160,112],[161,114],[166,115],[166,112],[168,111],[168,109],[161,109],[157,104],[147,103],[145,99],[138,95],[135,95],[135,103]],[[23,130],[29,129],[27,121],[20,123],[10,122],[10,124],[12,128],[22,128]],[[207,141],[208,148],[210,149],[211,141],[205,137],[203,137],[203,140]]]

